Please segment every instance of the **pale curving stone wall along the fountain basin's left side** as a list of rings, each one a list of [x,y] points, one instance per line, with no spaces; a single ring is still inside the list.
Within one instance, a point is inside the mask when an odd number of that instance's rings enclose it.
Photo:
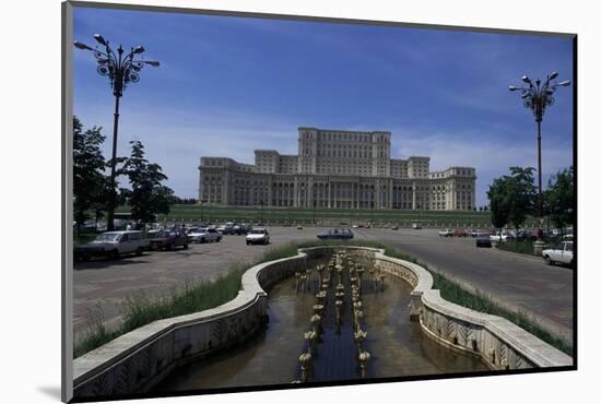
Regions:
[[[267,320],[263,288],[305,269],[307,256],[258,264],[246,271],[236,298],[214,309],[143,325],[73,361],[73,396],[142,393],[176,366],[239,343]]]

